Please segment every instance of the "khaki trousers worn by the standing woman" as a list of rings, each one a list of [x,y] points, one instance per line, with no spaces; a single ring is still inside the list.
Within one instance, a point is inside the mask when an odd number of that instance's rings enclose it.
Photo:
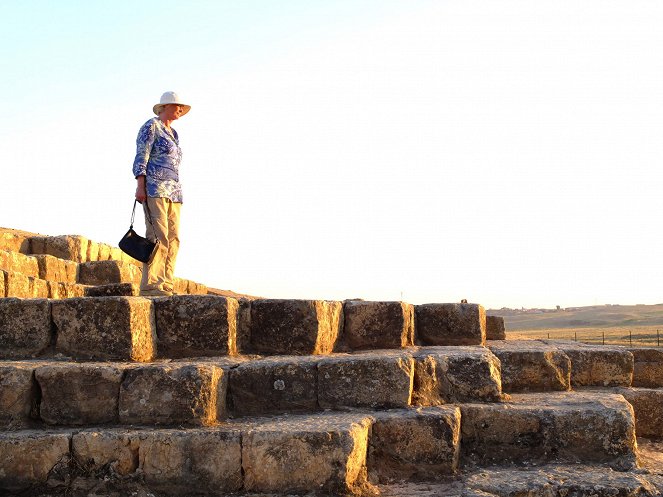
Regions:
[[[148,220],[147,207],[150,208],[152,223]],[[159,240],[159,248],[152,257],[150,264],[143,264],[141,290],[173,291],[173,274],[175,259],[180,248],[180,207],[182,204],[167,198],[147,197],[143,202],[145,211],[146,238]],[[152,227],[154,224],[154,227]]]

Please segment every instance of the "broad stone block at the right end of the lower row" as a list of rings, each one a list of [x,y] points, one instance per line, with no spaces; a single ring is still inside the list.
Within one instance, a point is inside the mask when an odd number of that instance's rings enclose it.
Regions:
[[[635,420],[621,395],[516,394],[509,403],[461,404],[462,456],[486,463],[636,462]]]

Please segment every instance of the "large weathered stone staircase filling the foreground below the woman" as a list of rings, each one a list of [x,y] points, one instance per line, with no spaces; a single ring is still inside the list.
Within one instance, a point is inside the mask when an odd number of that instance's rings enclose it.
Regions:
[[[663,350],[486,341],[486,322],[477,304],[0,299],[0,495],[662,495]]]

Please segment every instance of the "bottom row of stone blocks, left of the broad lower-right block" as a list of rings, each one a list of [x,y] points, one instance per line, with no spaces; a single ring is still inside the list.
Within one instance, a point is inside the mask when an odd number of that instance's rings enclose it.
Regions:
[[[242,420],[215,427],[0,432],[0,489],[140,477],[166,495],[374,493],[368,482],[453,474],[460,411],[432,407]],[[78,480],[78,481],[77,481]]]

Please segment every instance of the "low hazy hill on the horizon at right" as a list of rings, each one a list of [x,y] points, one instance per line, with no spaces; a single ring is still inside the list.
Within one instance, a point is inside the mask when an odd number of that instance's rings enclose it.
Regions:
[[[508,331],[663,326],[663,304],[596,305],[567,309],[488,309],[486,314],[504,317]]]

